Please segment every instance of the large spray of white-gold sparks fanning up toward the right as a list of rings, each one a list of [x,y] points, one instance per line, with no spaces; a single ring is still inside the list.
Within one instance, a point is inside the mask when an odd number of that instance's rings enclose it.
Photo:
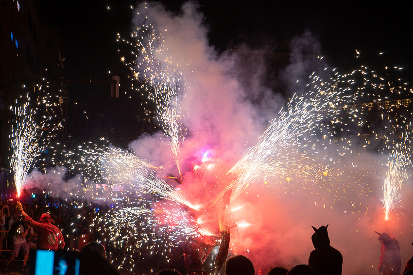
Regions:
[[[334,77],[325,81],[313,72],[307,84],[310,91],[303,96],[294,95],[286,110],[281,110],[278,118],[271,121],[258,144],[249,148],[241,160],[230,169],[228,173],[238,176],[224,190],[233,189],[231,201],[245,192],[248,185],[257,179],[266,180],[280,176],[284,178],[294,173],[303,182],[309,182],[314,181],[320,174],[328,177],[342,175],[340,169],[328,168],[330,164],[340,162],[328,151],[339,152],[337,155],[341,158],[344,158],[347,152],[352,153],[351,141],[345,137],[346,132],[350,131],[346,122],[356,123],[358,127],[365,125],[360,109],[368,107],[356,102],[360,102],[363,97],[371,97],[371,91],[412,94],[412,89],[409,91],[406,83],[400,80],[396,83],[385,81],[378,73],[364,65],[349,74],[341,74],[336,69],[332,69],[332,73]],[[387,99],[380,95],[378,97],[377,102]],[[405,119],[400,120],[405,122]],[[328,121],[330,123],[326,123]],[[344,145],[335,141],[339,133]],[[320,139],[320,136],[323,138]],[[316,144],[324,146],[324,153],[315,147]],[[368,146],[364,146],[366,147]],[[329,173],[329,170],[336,171]],[[287,178],[287,181],[289,180],[291,178]],[[345,194],[344,188],[343,186]]]

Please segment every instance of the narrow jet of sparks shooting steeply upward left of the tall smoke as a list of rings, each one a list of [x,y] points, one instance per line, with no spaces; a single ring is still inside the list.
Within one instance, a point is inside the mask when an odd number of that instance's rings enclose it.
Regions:
[[[161,33],[157,34],[151,24],[138,27],[132,33],[132,37],[137,39],[134,47],[139,54],[135,55],[137,60],[132,63],[130,69],[136,78],[142,74],[149,84],[147,90],[149,99],[156,104],[156,120],[164,134],[170,138],[172,157],[182,180],[179,155],[185,131],[180,119],[183,107],[178,98],[179,82],[182,77],[179,71],[180,65],[174,64],[172,58],[165,55],[163,36]]]

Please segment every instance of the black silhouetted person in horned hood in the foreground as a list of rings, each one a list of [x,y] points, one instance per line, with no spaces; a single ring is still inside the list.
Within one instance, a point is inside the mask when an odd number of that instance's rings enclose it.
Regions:
[[[315,249],[310,253],[309,266],[314,268],[319,275],[341,275],[343,256],[340,251],[330,245],[327,226],[321,226],[318,229],[311,226],[315,231],[311,236]]]

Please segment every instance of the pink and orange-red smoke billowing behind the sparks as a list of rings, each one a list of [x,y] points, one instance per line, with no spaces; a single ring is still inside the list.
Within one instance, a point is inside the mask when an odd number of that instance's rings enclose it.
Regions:
[[[269,120],[288,98],[262,82],[271,73],[265,55],[256,53],[245,62],[241,57],[246,58],[250,50],[245,45],[223,53],[209,45],[208,29],[196,2],[185,3],[179,14],[156,3],[141,3],[137,11],[134,26],[149,20],[165,37],[164,48],[172,63],[184,68],[179,100],[187,113],[181,116],[187,134],[180,153],[184,184],[179,188],[193,203],[207,205],[217,195],[214,191],[222,190],[229,180],[229,176],[223,175],[248,147],[258,142]],[[284,95],[303,94],[308,75],[325,66],[314,64],[314,56],[321,54],[321,45],[309,31],[297,35],[291,46],[291,63],[275,81],[287,89]],[[177,175],[168,138],[162,134],[144,135],[129,146],[140,158]],[[331,146],[327,151],[335,149]],[[211,164],[210,173],[197,174],[193,167],[204,165],[205,154],[209,158],[205,165]],[[287,182],[285,178],[250,184],[247,194],[227,210],[228,222],[238,226],[231,229],[230,248],[250,257],[263,273],[278,264],[291,268],[308,263],[313,250],[311,226],[328,224],[331,245],[344,258],[344,275],[377,273],[380,243],[374,230],[393,233],[400,243],[403,268],[413,252],[413,217],[409,212],[413,190],[407,182],[399,208],[386,222],[379,200],[384,173],[379,174],[382,162],[376,160],[377,155],[355,146],[352,154],[337,163],[342,167],[342,175],[326,180],[323,185],[308,185],[294,179]],[[58,193],[66,186],[64,194],[70,198],[82,180],[75,177],[65,183],[65,173],[63,167],[47,174],[34,171],[27,187]],[[239,206],[241,210],[233,210]]]

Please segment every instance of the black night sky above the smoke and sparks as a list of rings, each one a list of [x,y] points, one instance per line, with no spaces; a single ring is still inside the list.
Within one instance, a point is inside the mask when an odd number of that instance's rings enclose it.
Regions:
[[[178,12],[185,1],[164,0]],[[200,0],[210,43],[223,50],[241,42],[258,48],[308,29],[335,62],[355,50],[407,67],[412,62],[413,23],[408,1]],[[98,70],[119,61],[115,37],[130,32],[135,1],[40,1],[41,21],[60,29],[67,62],[92,62]],[[110,10],[106,7],[109,6]],[[73,56],[72,56],[73,55]],[[82,60],[83,59],[83,60]],[[403,63],[403,64],[400,64]]]

